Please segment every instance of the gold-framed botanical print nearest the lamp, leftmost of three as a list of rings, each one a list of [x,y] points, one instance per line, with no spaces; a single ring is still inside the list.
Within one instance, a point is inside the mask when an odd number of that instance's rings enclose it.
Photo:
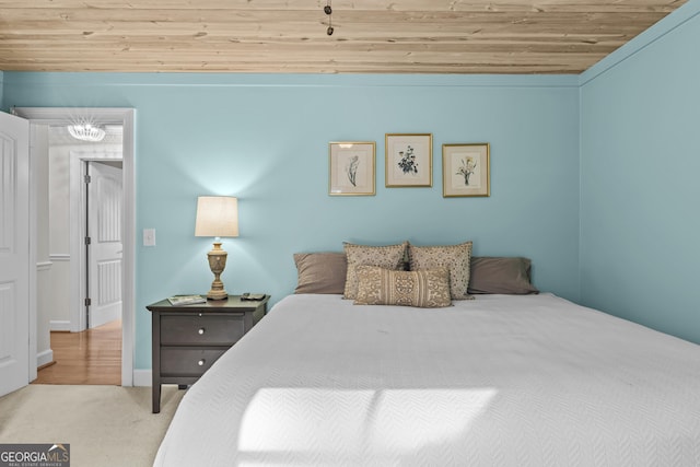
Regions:
[[[373,196],[375,178],[375,143],[328,143],[328,194],[331,196]]]

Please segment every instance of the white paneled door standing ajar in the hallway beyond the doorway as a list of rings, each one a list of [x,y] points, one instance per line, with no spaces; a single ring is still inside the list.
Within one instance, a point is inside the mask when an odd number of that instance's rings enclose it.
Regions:
[[[121,167],[88,163],[89,327],[121,318]]]

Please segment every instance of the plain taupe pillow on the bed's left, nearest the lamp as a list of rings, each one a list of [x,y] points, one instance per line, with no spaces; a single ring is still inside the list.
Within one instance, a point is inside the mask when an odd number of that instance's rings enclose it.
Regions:
[[[343,293],[348,261],[345,253],[296,253],[294,293]]]

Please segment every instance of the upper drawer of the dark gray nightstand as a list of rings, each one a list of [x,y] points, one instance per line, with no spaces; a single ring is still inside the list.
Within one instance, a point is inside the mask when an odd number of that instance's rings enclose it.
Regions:
[[[232,346],[244,334],[243,313],[161,317],[161,346]]]

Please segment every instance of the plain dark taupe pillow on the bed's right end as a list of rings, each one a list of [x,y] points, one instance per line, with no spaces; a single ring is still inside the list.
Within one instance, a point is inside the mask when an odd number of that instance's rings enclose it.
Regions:
[[[530,260],[527,258],[474,257],[469,293],[539,293],[530,283]]]

